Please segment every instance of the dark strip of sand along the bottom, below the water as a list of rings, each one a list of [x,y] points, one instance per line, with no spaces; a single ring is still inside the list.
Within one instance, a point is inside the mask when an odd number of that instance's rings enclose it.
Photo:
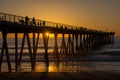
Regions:
[[[2,72],[0,80],[120,80],[120,72]]]

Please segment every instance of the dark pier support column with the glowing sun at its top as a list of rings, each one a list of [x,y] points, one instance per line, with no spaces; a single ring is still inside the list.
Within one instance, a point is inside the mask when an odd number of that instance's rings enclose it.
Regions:
[[[47,67],[47,71],[48,71],[48,67],[49,67],[49,58],[48,58],[48,41],[49,41],[49,35],[48,33],[44,32],[43,33],[43,41],[44,41],[44,47],[45,47],[45,62],[46,62],[46,67]]]

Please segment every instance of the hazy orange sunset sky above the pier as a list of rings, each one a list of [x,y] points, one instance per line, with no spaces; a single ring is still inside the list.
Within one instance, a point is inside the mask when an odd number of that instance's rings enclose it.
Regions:
[[[0,12],[120,35],[120,0],[0,0]]]

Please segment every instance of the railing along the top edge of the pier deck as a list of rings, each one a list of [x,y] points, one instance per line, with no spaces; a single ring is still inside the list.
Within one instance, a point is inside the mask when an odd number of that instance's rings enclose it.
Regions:
[[[74,30],[96,31],[96,30],[87,29],[87,28],[84,28],[84,27],[61,24],[61,23],[39,20],[39,19],[35,19],[35,25],[33,25],[32,20],[33,20],[33,18],[29,18],[28,26],[36,26],[36,27],[44,27],[45,26],[45,27],[55,27],[55,28],[57,27],[57,28],[63,28],[63,29],[67,28],[67,29],[74,29]],[[18,16],[18,15],[13,15],[13,14],[8,14],[8,13],[2,13],[2,12],[0,12],[0,21],[7,21],[7,22],[11,22],[11,23],[17,23],[17,24],[25,25],[25,17]]]

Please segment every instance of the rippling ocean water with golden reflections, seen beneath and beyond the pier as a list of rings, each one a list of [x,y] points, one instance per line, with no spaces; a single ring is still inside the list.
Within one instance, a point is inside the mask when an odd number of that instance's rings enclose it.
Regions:
[[[22,39],[19,38],[18,40],[18,52],[20,52]],[[58,47],[61,46],[61,38],[58,38]],[[67,41],[67,39],[66,39]],[[32,39],[31,39],[32,42]],[[15,72],[15,40],[13,38],[8,38],[7,40],[9,53],[10,53],[10,60],[12,65],[12,71]],[[32,44],[32,43],[31,43]],[[38,50],[36,57],[36,66],[35,72],[82,72],[82,71],[115,71],[120,72],[120,37],[115,37],[114,44],[107,44],[101,46],[91,52],[87,53],[88,55],[85,56],[77,56],[72,57],[69,59],[64,59],[59,63],[59,65],[55,61],[50,61],[48,68],[44,62],[44,56],[41,53],[44,53],[44,45],[43,40],[40,38],[38,43]],[[0,52],[2,46],[2,39],[0,39]],[[49,53],[53,52],[54,48],[54,38],[50,38],[49,40]],[[31,64],[30,58],[28,55],[28,48],[27,44],[25,44],[24,54],[22,57],[21,67],[19,68],[20,72],[30,72],[31,71]],[[50,54],[50,59],[53,58],[52,54]],[[3,57],[3,63],[1,72],[7,72],[8,67],[6,63],[6,57]]]

